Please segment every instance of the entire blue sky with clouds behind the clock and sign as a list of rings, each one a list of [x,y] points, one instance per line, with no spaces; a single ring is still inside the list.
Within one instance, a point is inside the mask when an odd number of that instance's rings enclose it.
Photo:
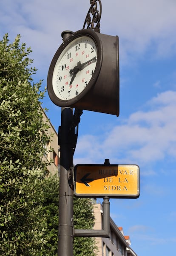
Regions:
[[[31,46],[46,86],[61,32],[82,29],[89,0],[1,0],[0,38]],[[111,217],[138,256],[172,255],[176,244],[176,1],[102,0],[101,33],[119,36],[120,115],[83,111],[74,164],[138,164],[140,197],[111,199]],[[43,107],[55,129],[60,107]]]

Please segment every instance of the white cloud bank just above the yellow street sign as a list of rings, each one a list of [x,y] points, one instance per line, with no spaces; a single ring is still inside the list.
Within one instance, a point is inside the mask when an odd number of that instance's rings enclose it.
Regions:
[[[145,163],[176,157],[176,92],[158,94],[148,111],[130,115],[101,136],[84,135],[77,144],[76,158]],[[77,161],[75,159],[75,161]],[[90,162],[89,161],[89,162]]]

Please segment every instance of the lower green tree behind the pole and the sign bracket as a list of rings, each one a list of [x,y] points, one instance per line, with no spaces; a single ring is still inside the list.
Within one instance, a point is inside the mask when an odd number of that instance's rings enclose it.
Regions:
[[[43,184],[44,201],[42,214],[47,222],[47,243],[39,255],[57,256],[58,239],[58,198],[59,178],[57,175],[48,177]],[[74,197],[74,228],[92,229],[94,225],[93,205],[89,198]],[[96,244],[94,238],[75,237],[74,255],[95,256]]]

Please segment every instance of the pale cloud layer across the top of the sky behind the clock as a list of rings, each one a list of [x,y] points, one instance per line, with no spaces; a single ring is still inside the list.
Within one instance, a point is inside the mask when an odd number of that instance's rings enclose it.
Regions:
[[[44,69],[62,42],[61,32],[82,29],[90,7],[89,1],[79,0],[1,2],[0,33],[8,32],[11,40],[21,34],[34,51],[37,67],[45,65]],[[176,53],[175,9],[173,0],[102,1],[101,32],[119,35],[121,65],[131,63],[129,56],[139,57],[149,47],[153,53],[148,58]]]

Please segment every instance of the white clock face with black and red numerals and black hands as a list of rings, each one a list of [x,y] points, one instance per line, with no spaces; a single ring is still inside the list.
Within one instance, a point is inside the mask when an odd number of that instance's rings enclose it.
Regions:
[[[80,36],[63,49],[54,66],[54,94],[63,101],[77,97],[88,85],[97,65],[97,45],[92,37]]]

